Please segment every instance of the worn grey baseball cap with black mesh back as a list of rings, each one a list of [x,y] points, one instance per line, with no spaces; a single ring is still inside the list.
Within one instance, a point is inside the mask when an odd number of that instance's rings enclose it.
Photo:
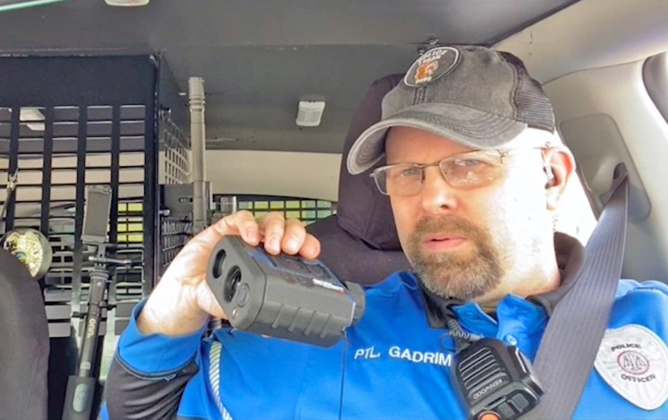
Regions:
[[[348,154],[359,174],[385,154],[390,127],[429,131],[474,149],[502,149],[527,127],[555,131],[550,99],[516,56],[476,45],[436,47],[422,54],[382,102],[381,121]]]

